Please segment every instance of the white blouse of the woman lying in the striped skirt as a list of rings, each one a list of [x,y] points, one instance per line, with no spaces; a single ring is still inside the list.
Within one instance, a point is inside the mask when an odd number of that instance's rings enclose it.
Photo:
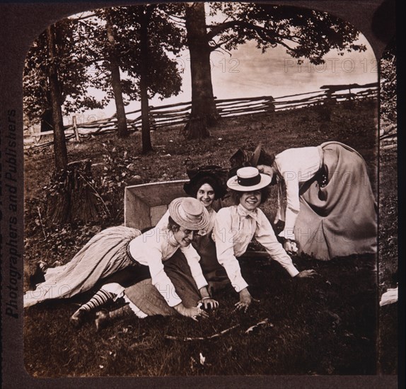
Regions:
[[[182,302],[181,298],[175,291],[172,281],[163,269],[163,261],[168,260],[178,248],[186,257],[187,264],[195,279],[197,288],[207,286],[207,281],[203,276],[200,267],[200,257],[192,245],[180,247],[173,237],[173,232],[168,230],[169,211],[166,212],[158,221],[155,228],[146,231],[129,243],[129,252],[134,260],[141,265],[149,267],[152,284],[165,298],[168,306],[177,306]]]

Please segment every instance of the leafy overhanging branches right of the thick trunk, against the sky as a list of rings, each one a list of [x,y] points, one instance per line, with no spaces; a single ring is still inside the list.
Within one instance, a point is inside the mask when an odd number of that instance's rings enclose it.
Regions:
[[[228,17],[209,26],[209,39],[216,38],[214,49],[236,49],[255,40],[262,52],[282,45],[291,57],[313,64],[323,64],[323,56],[332,49],[340,54],[366,50],[356,42],[358,31],[330,13],[260,3],[214,3],[212,8]]]

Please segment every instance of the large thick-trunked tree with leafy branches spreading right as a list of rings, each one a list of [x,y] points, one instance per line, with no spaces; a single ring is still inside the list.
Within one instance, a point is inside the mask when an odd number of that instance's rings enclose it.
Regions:
[[[215,2],[208,6],[209,16],[216,16],[209,25],[202,3],[185,4],[182,14],[192,70],[192,112],[185,127],[188,139],[209,137],[207,127],[219,119],[212,93],[210,52],[236,49],[254,40],[262,52],[282,45],[298,63],[307,58],[313,64],[323,64],[323,56],[332,49],[340,54],[366,50],[356,42],[359,33],[352,25],[329,13],[261,3]]]

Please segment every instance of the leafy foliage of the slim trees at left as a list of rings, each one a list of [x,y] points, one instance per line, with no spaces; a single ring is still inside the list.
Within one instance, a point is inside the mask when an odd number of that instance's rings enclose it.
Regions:
[[[91,15],[66,18],[55,23],[57,31],[57,69],[61,84],[64,115],[86,109],[103,108],[114,95],[111,87],[111,63],[114,57],[122,72],[122,91],[126,103],[139,100],[141,60],[149,63],[149,97],[161,98],[178,94],[182,84],[179,69],[170,53],[178,53],[184,45],[182,31],[170,23],[166,12],[175,5],[130,6],[95,10]],[[140,23],[151,13],[149,23],[149,55],[140,56]],[[114,47],[108,42],[105,23],[110,18],[115,28]],[[24,110],[31,122],[40,120],[50,109],[47,67],[50,59],[45,32],[28,52],[23,76]],[[89,88],[106,93],[96,99]]]

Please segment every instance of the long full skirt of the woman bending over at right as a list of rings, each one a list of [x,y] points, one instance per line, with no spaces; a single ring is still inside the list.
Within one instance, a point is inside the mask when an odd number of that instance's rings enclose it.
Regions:
[[[322,145],[320,177],[300,188],[300,211],[295,224],[299,250],[319,260],[375,254],[377,213],[364,159],[336,142]]]

